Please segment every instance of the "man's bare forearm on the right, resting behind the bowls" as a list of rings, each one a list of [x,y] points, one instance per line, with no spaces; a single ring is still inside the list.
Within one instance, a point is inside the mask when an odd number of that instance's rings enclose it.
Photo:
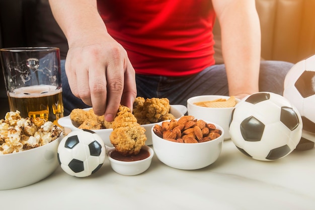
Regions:
[[[221,27],[229,94],[243,98],[259,91],[260,22],[253,0],[212,0]]]

